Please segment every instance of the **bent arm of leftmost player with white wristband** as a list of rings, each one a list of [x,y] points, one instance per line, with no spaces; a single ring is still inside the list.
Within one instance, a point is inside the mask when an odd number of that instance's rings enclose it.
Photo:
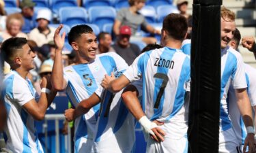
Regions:
[[[46,88],[46,91],[42,91],[39,101],[31,99],[23,105],[23,108],[35,119],[43,120],[46,114],[46,109],[51,105],[57,92],[51,88],[51,80],[49,77],[43,77],[41,82],[41,88]],[[51,90],[49,90],[51,89]]]

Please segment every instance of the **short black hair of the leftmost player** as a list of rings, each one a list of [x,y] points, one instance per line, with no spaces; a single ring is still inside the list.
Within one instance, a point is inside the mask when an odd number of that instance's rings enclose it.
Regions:
[[[1,46],[1,55],[11,66],[14,64],[14,56],[19,49],[27,44],[27,39],[24,37],[11,37],[3,41]]]

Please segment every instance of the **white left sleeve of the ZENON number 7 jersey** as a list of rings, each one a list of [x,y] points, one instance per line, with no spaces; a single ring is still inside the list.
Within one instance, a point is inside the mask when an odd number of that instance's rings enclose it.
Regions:
[[[126,76],[126,78],[128,80],[130,80],[130,82],[133,82],[135,80],[139,80],[142,77],[143,74],[143,55],[145,53],[139,55],[137,58],[135,58],[134,62],[132,63],[132,65],[130,65],[130,67],[128,67],[128,69],[124,72],[124,76]]]

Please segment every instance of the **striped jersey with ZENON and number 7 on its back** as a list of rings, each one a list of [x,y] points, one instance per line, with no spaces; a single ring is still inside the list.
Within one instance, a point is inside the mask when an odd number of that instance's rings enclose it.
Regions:
[[[147,118],[173,122],[175,137],[184,137],[187,114],[184,95],[190,90],[190,58],[168,47],[150,50],[137,57],[124,72],[130,82],[143,80],[142,108]]]

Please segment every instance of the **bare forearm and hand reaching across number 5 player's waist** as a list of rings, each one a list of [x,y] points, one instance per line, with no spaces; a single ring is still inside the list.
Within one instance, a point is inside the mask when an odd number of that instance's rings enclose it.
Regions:
[[[68,122],[71,122],[77,117],[89,112],[89,109],[91,109],[91,107],[94,107],[98,103],[100,103],[100,97],[98,97],[98,95],[96,95],[96,93],[94,92],[94,94],[91,95],[88,99],[81,101],[79,105],[77,105],[76,109],[66,109],[66,120],[68,120]]]

